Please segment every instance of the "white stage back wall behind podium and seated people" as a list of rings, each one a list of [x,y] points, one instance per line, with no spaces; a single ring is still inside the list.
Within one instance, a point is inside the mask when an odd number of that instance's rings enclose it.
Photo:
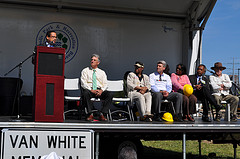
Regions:
[[[182,62],[181,22],[31,8],[1,8],[0,15],[0,76],[32,54],[39,31],[52,22],[70,26],[78,39],[76,55],[65,65],[65,76],[69,78],[80,76],[93,53],[101,56],[100,67],[109,79],[123,78],[125,71],[133,70],[135,61],[145,64],[146,74],[155,71],[158,60],[166,60],[173,72]],[[32,94],[33,75],[34,66],[28,60],[22,66],[22,93]],[[18,77],[18,70],[7,77]]]

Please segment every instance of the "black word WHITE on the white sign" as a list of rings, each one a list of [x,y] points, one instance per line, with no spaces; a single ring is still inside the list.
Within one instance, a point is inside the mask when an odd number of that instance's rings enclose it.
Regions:
[[[85,149],[86,136],[47,136],[48,148]]]

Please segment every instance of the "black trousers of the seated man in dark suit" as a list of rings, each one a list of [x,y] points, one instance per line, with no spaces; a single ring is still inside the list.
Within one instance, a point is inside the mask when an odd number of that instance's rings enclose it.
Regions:
[[[203,86],[200,90],[195,90],[194,94],[202,102],[203,115],[208,115],[209,103],[214,106],[218,105],[216,99],[214,98],[214,96],[212,96],[210,90],[207,89],[205,86]]]

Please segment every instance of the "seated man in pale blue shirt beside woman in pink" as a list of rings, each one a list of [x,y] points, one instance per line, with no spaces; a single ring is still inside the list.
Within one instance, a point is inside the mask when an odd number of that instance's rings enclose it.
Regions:
[[[149,75],[152,94],[152,112],[157,121],[161,121],[160,110],[164,99],[172,101],[175,106],[175,121],[182,120],[182,94],[172,92],[172,81],[169,75],[163,71],[166,68],[165,61],[158,61],[157,72]]]

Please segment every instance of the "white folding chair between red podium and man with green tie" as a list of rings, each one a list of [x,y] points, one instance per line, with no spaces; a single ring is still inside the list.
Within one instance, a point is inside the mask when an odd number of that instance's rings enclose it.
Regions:
[[[64,90],[65,91],[80,91],[79,88],[79,78],[74,78],[74,79],[64,79]],[[63,117],[65,120],[65,114],[69,113],[69,112],[79,112],[80,113],[80,100],[81,97],[80,96],[64,96],[64,100],[67,102],[67,106],[68,106],[68,102],[69,101],[76,101],[76,105],[79,107],[79,109],[70,109],[67,110],[63,113]],[[81,115],[80,115],[81,117]]]

